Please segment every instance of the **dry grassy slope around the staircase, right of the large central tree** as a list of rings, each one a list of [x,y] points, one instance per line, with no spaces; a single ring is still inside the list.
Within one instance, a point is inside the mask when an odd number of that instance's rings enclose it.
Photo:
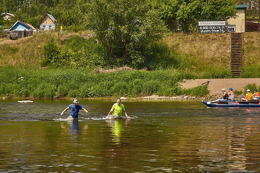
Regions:
[[[230,70],[231,33],[174,33],[167,39],[181,61],[179,69],[194,72],[198,78],[232,78]],[[242,75],[260,77],[260,33],[242,33]],[[208,76],[208,77],[206,77]]]

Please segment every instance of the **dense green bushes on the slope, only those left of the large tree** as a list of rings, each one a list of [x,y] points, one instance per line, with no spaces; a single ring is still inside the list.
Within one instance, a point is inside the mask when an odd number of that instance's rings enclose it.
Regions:
[[[106,59],[109,55],[94,37],[85,39],[72,35],[65,41],[64,46],[51,39],[44,45],[43,53],[45,58],[41,60],[41,66],[105,67],[109,64],[109,58]]]

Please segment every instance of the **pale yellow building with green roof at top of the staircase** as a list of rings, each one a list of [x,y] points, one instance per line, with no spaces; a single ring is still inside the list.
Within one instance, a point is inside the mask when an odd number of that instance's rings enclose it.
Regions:
[[[234,32],[245,32],[246,31],[246,4],[236,5],[237,16],[236,18],[230,18],[227,20],[227,27],[232,28]]]

